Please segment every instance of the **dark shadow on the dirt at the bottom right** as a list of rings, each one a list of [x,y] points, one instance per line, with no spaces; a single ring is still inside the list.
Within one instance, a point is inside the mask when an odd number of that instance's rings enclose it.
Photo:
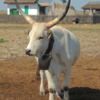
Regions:
[[[87,87],[69,89],[70,100],[100,100],[100,90]]]

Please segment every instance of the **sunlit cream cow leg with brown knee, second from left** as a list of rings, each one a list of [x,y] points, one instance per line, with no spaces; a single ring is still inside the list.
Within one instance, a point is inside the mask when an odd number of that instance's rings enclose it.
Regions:
[[[50,71],[45,71],[47,81],[48,81],[48,90],[49,90],[49,100],[54,100],[55,84],[54,84],[54,75]]]

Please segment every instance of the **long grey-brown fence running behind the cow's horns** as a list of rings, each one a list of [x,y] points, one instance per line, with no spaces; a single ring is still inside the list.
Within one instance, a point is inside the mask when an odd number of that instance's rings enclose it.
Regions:
[[[48,22],[57,16],[31,16],[37,22]],[[80,24],[100,23],[100,15],[76,15],[66,16],[60,23],[73,23],[73,19],[78,18]],[[0,22],[3,23],[27,23],[21,15],[0,15]]]

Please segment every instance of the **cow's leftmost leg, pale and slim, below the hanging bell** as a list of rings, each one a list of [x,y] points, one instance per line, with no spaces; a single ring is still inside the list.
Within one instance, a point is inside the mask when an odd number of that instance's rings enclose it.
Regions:
[[[44,86],[45,71],[40,70],[40,77],[41,77],[40,95],[45,95],[45,86]]]

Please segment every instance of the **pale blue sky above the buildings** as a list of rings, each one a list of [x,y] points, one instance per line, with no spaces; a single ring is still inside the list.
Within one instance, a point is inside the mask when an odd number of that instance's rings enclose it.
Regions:
[[[0,11],[7,10],[7,5],[4,4],[5,0],[0,0]],[[85,4],[87,4],[88,2],[98,2],[100,0],[71,0],[71,5],[74,6],[76,11],[82,11],[81,7],[84,6]]]

